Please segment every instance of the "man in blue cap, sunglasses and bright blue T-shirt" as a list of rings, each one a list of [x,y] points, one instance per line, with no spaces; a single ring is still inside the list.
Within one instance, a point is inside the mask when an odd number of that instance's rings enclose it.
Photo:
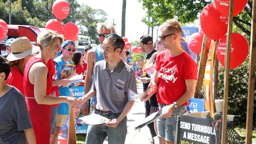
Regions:
[[[74,52],[76,52],[74,42],[64,41],[62,43],[61,55],[59,55],[54,59],[54,61],[57,63],[55,67],[57,79],[63,79],[61,78],[61,73],[60,73],[63,65],[73,64],[73,62],[71,61],[71,58],[73,57]],[[75,75],[76,75],[76,69],[72,68],[69,76],[65,77],[65,79],[72,78]],[[77,87],[78,85],[79,83],[76,83],[74,87]],[[58,89],[59,89],[60,96],[70,96],[69,87],[60,87]],[[69,105],[67,103],[59,103],[58,114],[56,116],[56,127],[55,127],[54,135],[52,136],[52,142],[58,139],[58,135],[61,130],[61,127],[63,124],[65,124],[68,115],[69,115]]]

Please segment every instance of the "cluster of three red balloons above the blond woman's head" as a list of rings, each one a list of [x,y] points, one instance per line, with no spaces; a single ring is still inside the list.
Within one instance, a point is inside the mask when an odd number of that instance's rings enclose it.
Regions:
[[[69,15],[69,4],[65,0],[56,0],[52,5],[52,12],[56,18],[63,20]],[[71,41],[76,41],[79,32],[76,24],[69,22],[62,26],[57,19],[48,20],[45,28],[46,30],[57,31],[58,34],[62,34],[65,39]]]

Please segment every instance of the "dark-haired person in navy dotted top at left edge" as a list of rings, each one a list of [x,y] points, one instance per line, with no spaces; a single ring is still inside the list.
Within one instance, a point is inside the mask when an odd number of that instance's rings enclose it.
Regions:
[[[35,144],[35,134],[23,95],[7,85],[9,62],[0,55],[0,143]]]

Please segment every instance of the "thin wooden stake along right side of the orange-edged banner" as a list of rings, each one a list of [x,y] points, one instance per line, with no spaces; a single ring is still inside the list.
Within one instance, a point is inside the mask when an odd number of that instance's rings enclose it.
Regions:
[[[218,46],[218,43],[219,43],[219,40],[216,40],[216,43],[215,43],[215,54],[214,54],[214,57],[215,57],[215,63],[214,63],[214,100],[217,99],[218,97],[218,76],[219,76],[219,60],[218,60],[218,57],[217,57],[217,46]],[[214,101],[213,101],[214,103]],[[215,107],[215,104],[214,104],[214,112],[216,112],[216,107]]]

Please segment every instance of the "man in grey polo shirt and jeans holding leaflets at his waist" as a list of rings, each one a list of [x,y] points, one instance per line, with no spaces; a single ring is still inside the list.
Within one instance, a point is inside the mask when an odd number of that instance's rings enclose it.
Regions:
[[[124,48],[122,37],[115,33],[107,35],[102,44],[105,61],[98,61],[93,70],[92,89],[79,98],[87,102],[96,95],[93,113],[107,117],[115,124],[88,126],[85,144],[102,144],[104,134],[108,144],[124,144],[127,133],[126,114],[134,101],[128,101],[128,89],[137,93],[134,70],[119,57]]]

